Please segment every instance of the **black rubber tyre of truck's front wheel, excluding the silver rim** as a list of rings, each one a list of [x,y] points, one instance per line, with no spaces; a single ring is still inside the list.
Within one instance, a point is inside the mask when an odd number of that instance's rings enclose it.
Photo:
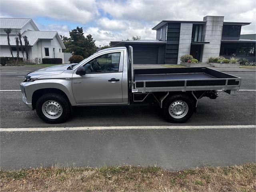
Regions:
[[[60,105],[60,107],[62,108],[62,111],[61,111],[62,113],[59,115],[59,117],[54,117],[54,119],[52,119],[52,118],[48,118],[46,116],[47,114],[46,115],[44,114],[47,112],[43,112],[42,106],[48,101],[55,101],[56,104]],[[47,93],[42,95],[37,100],[36,113],[46,123],[51,123],[51,124],[62,123],[62,122],[65,122],[70,117],[71,107],[68,99],[62,96],[61,94]],[[50,116],[50,114],[48,114],[48,116]],[[58,116],[58,114],[56,116]]]

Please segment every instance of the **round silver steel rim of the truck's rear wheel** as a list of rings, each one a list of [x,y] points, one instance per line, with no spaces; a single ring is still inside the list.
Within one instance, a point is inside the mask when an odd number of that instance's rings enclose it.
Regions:
[[[172,104],[170,104],[169,107],[169,114],[173,118],[180,119],[188,113],[188,104],[184,101],[174,101]]]

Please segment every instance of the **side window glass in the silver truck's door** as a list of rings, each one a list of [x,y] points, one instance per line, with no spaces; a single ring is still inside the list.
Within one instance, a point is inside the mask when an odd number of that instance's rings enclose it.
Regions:
[[[120,52],[108,53],[90,60],[84,65],[86,73],[118,72],[120,54]]]

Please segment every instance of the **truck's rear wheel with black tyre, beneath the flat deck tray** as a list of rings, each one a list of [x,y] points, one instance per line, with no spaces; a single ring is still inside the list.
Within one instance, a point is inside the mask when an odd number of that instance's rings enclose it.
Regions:
[[[173,107],[172,104],[179,105],[178,108],[182,108],[181,111],[184,110],[183,114],[176,115],[172,111],[172,107]],[[186,122],[192,116],[194,110],[195,110],[194,100],[190,96],[185,94],[175,94],[172,96],[168,96],[164,100],[162,105],[162,111],[163,111],[164,117],[166,118],[166,120],[168,120],[171,123]]]

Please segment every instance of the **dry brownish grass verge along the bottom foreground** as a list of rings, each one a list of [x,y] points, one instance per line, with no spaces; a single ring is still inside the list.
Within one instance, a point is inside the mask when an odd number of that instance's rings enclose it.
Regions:
[[[253,192],[256,164],[176,172],[156,166],[2,170],[0,191]]]

